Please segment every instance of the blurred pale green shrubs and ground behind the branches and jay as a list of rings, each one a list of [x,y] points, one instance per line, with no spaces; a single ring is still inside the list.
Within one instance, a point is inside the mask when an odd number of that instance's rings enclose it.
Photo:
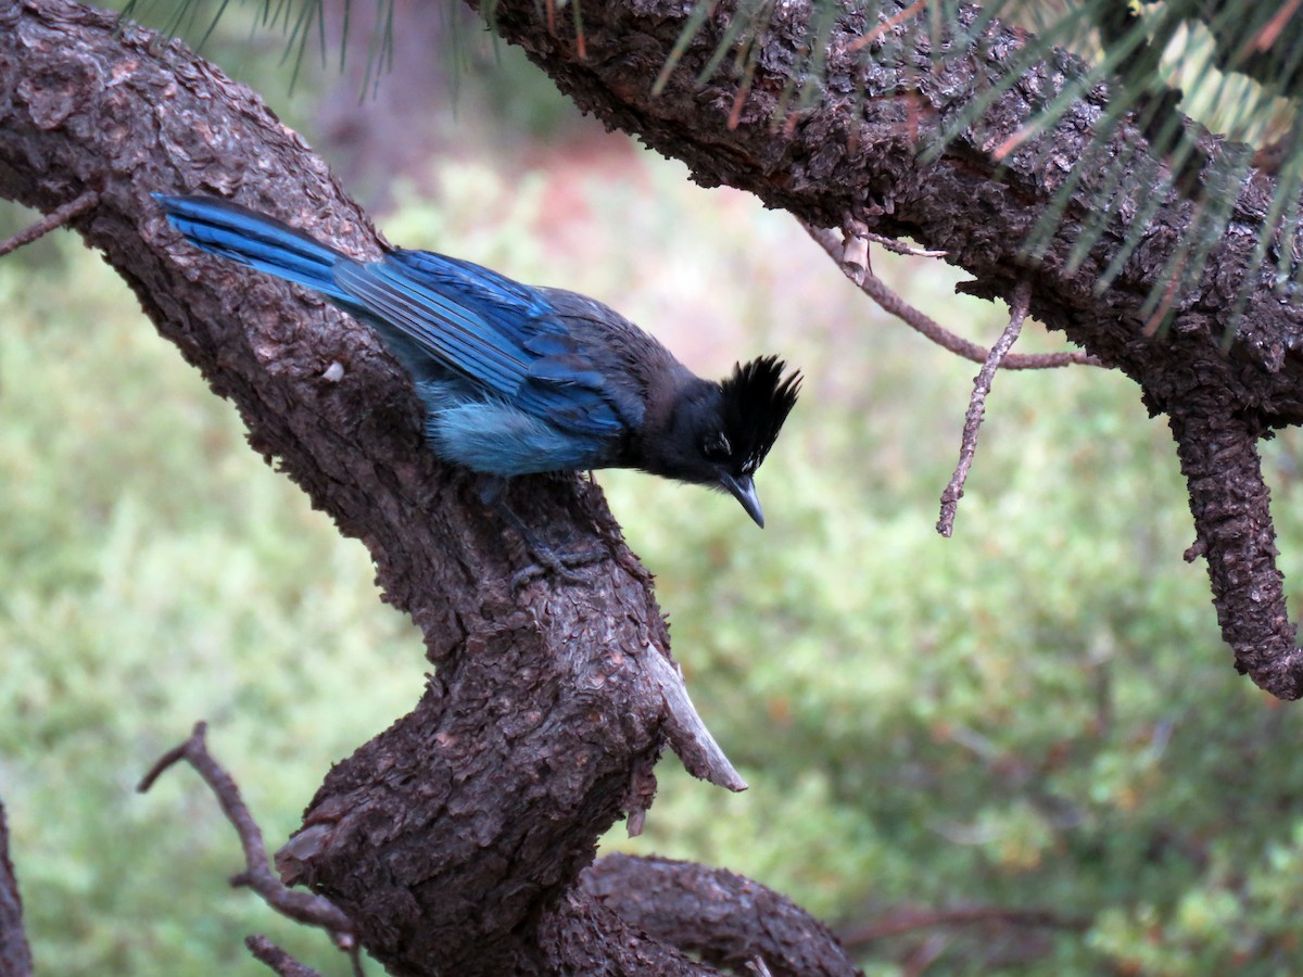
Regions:
[[[228,25],[211,53],[262,70],[314,139],[310,86],[287,96],[242,40]],[[1001,375],[945,541],[977,367],[872,309],[784,215],[689,186],[623,137],[556,112],[523,172],[493,147],[521,138],[520,102],[546,82],[504,98],[496,70],[498,89],[468,70],[464,100],[431,109],[459,138],[387,188],[391,240],[594,294],[705,374],[775,350],[808,378],[758,479],[764,533],[727,498],[598,477],[752,784],[730,796],[671,758],[646,832],[607,845],[727,866],[848,927],[1050,913],[1031,935],[866,943],[870,973],[909,954],[938,973],[1303,959],[1300,718],[1231,671],[1204,568],[1181,560],[1170,436],[1135,388],[1088,369]],[[506,103],[495,130],[480,108]],[[3,210],[0,233],[29,219]],[[954,297],[946,266],[874,262],[938,319],[997,335],[1005,310]],[[134,784],[206,718],[275,847],[327,766],[416,701],[414,630],[379,603],[362,546],[248,449],[76,238],[0,262],[0,796],[38,965],[257,974],[241,939],[266,931],[341,972],[318,934],[225,887],[238,847],[194,776]],[[1269,446],[1286,554],[1303,552],[1299,447]]]

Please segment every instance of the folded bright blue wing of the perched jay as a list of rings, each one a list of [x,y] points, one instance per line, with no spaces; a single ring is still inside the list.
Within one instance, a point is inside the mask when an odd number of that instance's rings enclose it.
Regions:
[[[433,251],[341,261],[335,283],[374,324],[476,387],[551,425],[619,435],[628,423],[602,374],[537,289]]]

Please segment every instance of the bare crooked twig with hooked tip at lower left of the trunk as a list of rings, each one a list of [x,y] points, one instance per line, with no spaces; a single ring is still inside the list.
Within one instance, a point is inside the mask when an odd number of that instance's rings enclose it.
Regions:
[[[231,885],[248,886],[281,916],[324,929],[330,933],[335,946],[353,957],[353,969],[360,973],[361,964],[358,961],[357,941],[353,937],[353,921],[328,899],[311,892],[298,892],[287,888],[276,878],[276,874],[271,870],[271,864],[267,861],[267,847],[262,840],[262,830],[240,796],[238,786],[222,769],[218,761],[212,758],[212,754],[208,753],[207,744],[205,743],[207,728],[207,723],[195,723],[190,739],[159,757],[137,789],[145,793],[154,786],[154,782],[158,780],[164,770],[182,759],[194,767],[212,789],[212,793],[216,795],[218,802],[222,805],[222,812],[235,827],[236,834],[240,836],[240,844],[244,847],[245,870],[232,875]]]

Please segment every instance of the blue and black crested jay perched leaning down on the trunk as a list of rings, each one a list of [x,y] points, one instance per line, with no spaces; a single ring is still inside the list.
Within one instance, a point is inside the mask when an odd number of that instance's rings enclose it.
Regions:
[[[319,292],[371,326],[425,404],[435,453],[504,481],[543,472],[636,468],[732,494],[757,525],[752,481],[796,404],[800,374],[777,357],[704,380],[601,302],[532,288],[433,251],[349,258],[274,218],[212,197],[155,194],[185,238]]]

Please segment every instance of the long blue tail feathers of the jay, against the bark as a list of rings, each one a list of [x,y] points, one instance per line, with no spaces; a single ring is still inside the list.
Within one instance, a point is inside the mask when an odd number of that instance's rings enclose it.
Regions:
[[[197,248],[348,301],[335,283],[335,263],[344,255],[302,231],[228,201],[159,193],[154,198]]]

